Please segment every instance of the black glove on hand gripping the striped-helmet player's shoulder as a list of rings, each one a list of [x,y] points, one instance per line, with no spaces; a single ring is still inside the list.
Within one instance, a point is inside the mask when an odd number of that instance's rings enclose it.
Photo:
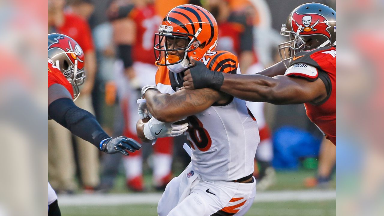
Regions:
[[[193,60],[192,60],[193,61]],[[222,72],[212,71],[201,61],[195,61],[194,67],[189,68],[193,85],[198,88],[213,88],[220,90],[223,85],[224,76]]]

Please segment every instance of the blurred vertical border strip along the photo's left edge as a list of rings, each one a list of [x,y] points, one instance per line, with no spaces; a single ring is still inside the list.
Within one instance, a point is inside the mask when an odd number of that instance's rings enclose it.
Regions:
[[[44,6],[46,2],[44,3]],[[0,2],[0,215],[47,213],[46,6]],[[5,147],[6,145],[4,145]]]

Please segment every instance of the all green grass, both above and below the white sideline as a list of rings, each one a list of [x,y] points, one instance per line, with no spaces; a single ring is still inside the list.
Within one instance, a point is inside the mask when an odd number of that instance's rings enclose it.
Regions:
[[[276,173],[277,182],[269,191],[303,190],[303,180],[313,176],[313,170]],[[151,175],[145,174],[147,191],[151,188]],[[333,180],[329,189],[336,189]],[[125,186],[124,176],[116,179],[113,194],[131,193]],[[59,199],[60,205],[60,199]],[[157,216],[156,204],[126,204],[117,206],[60,206],[63,216]],[[327,201],[276,201],[254,203],[247,216],[335,216],[336,200]]]

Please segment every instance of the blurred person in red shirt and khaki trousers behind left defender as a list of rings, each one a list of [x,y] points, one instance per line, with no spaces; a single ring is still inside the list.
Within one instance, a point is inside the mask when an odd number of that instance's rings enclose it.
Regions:
[[[76,100],[76,105],[85,110],[94,113],[91,99],[91,92],[94,86],[96,74],[96,55],[93,47],[91,30],[84,18],[88,18],[93,10],[93,6],[89,5],[90,1],[72,1],[73,10],[83,14],[83,17],[66,13],[65,0],[49,0],[48,2],[48,27],[49,32],[63,33],[72,37],[83,48],[85,56],[85,70],[87,73],[87,82],[81,87],[81,98]],[[84,5],[86,5],[84,7]],[[50,123],[50,148],[53,152],[60,152],[60,157],[54,169],[50,169],[52,173],[52,185],[58,191],[72,193],[76,188],[74,183],[74,155],[71,134],[63,131],[63,128],[56,123]],[[89,146],[83,139],[75,138],[76,152],[78,154],[78,163],[81,174],[81,182],[86,190],[93,190],[100,183],[99,178],[99,157],[98,151]],[[53,153],[52,155],[54,155]],[[64,166],[65,164],[65,166]]]

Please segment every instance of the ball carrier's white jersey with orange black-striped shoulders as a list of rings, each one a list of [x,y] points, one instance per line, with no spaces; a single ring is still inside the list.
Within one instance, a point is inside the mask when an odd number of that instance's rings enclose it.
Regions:
[[[238,73],[237,57],[227,51],[205,55],[201,61],[210,70]],[[172,73],[160,66],[156,86],[161,93],[175,93],[183,86],[183,73]],[[187,138],[192,148],[194,171],[211,180],[233,181],[253,173],[253,159],[260,143],[257,122],[245,101],[233,98],[224,105],[189,116]]]

